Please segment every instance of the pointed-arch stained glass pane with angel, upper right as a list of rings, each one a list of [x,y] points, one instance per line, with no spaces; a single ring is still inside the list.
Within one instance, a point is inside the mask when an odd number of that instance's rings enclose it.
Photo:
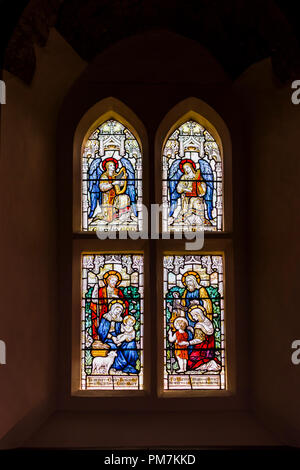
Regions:
[[[222,230],[220,149],[197,122],[185,122],[168,138],[162,185],[164,232]]]

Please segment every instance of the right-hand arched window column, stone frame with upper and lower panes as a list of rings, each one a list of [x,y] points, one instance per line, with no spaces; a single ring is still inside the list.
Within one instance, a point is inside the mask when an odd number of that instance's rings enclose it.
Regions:
[[[158,249],[159,392],[227,393],[234,382],[229,133],[212,108],[190,98],[162,121],[156,152],[162,231],[171,237]],[[185,235],[197,232],[203,247],[186,249]]]

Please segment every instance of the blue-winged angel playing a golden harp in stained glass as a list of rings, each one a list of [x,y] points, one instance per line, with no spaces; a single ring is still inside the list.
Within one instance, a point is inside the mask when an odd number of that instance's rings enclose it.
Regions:
[[[120,163],[120,165],[119,165]],[[89,219],[102,223],[125,222],[137,216],[135,175],[131,162],[123,157],[96,158],[89,168]],[[94,217],[97,204],[100,213]]]

